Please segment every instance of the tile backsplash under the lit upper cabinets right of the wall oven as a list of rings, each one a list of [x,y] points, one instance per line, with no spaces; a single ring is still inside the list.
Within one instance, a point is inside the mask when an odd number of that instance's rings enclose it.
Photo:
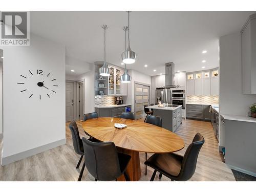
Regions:
[[[219,104],[219,96],[187,96],[186,103]]]

